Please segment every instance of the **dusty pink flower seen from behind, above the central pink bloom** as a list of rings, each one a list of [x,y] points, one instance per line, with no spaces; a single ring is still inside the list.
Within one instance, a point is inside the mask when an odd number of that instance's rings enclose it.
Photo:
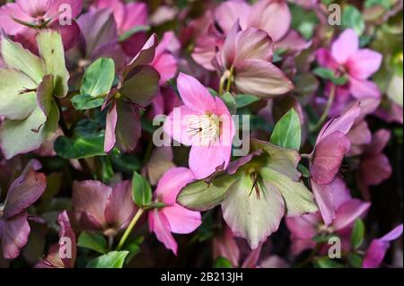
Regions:
[[[294,85],[271,64],[272,56],[273,43],[264,30],[241,30],[236,22],[216,54],[214,65],[236,90],[273,97],[292,90]]]

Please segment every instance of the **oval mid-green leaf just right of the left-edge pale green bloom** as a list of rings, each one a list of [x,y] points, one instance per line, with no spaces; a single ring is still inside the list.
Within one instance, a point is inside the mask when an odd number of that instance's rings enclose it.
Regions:
[[[101,57],[90,65],[83,76],[81,94],[92,98],[105,96],[115,78],[115,64],[111,58]]]

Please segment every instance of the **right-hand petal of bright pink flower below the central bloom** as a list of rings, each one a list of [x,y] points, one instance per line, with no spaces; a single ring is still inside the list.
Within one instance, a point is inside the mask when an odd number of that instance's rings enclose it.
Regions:
[[[165,207],[162,212],[170,223],[172,233],[191,233],[202,223],[200,212],[189,211],[180,204]]]

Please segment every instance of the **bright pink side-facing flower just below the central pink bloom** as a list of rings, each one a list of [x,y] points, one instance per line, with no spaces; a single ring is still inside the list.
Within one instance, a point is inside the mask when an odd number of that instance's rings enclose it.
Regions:
[[[172,233],[190,233],[202,223],[200,212],[192,212],[176,203],[180,189],[194,180],[189,169],[173,168],[160,179],[154,192],[157,203],[165,204],[148,214],[149,228],[167,249],[177,255],[177,243]]]

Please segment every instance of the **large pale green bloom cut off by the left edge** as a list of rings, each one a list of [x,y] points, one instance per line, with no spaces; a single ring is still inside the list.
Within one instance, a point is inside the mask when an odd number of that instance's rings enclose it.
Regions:
[[[40,56],[10,39],[2,40],[6,67],[0,68],[0,147],[6,159],[40,148],[57,131],[59,111],[53,96],[67,94],[69,78],[57,31],[36,37]]]

